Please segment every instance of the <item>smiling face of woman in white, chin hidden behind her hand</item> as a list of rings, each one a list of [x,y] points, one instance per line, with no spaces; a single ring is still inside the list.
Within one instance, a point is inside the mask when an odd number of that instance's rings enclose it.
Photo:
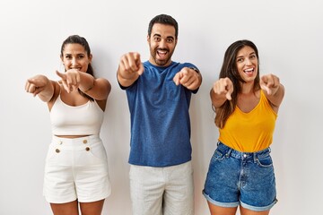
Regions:
[[[88,56],[88,53],[81,44],[68,43],[64,46],[61,59],[65,66],[65,71],[77,69],[86,73],[88,66],[92,61],[92,55]]]

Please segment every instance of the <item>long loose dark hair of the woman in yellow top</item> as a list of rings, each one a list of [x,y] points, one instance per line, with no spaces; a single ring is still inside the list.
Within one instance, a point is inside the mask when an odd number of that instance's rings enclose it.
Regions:
[[[260,89],[259,80],[259,56],[258,56],[258,48],[256,45],[247,40],[238,40],[231,44],[230,47],[225,51],[224,58],[223,58],[223,66],[221,68],[221,72],[219,74],[219,79],[228,77],[232,84],[233,84],[233,92],[231,95],[231,100],[226,100],[223,105],[216,110],[214,109],[216,116],[215,116],[215,125],[219,128],[223,128],[229,116],[231,116],[232,112],[234,111],[235,107],[237,106],[238,100],[238,93],[241,90],[240,82],[245,82],[241,78],[238,69],[237,69],[237,54],[242,47],[251,47],[254,49],[256,56],[258,58],[258,73],[255,79],[254,84],[254,91]]]

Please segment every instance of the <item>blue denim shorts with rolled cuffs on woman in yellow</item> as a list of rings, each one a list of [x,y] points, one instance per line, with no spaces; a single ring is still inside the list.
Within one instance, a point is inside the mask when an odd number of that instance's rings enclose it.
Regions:
[[[240,152],[218,142],[203,194],[208,202],[220,207],[270,210],[277,202],[270,148]]]

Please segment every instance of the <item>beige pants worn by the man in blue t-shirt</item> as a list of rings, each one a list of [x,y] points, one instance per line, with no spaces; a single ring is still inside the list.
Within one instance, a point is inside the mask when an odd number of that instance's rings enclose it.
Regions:
[[[134,215],[194,214],[191,161],[166,168],[131,165],[129,176]]]

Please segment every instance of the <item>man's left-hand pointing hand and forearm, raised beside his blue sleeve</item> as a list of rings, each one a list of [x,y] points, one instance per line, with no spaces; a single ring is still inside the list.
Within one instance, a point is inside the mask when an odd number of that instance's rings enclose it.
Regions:
[[[144,73],[144,65],[141,63],[139,53],[129,52],[121,56],[117,71],[118,82],[121,86],[132,85],[142,73]]]

